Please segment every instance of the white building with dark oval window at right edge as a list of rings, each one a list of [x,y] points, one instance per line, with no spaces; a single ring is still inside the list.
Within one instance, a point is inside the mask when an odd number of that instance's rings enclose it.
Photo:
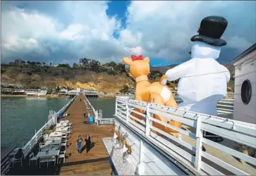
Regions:
[[[256,44],[237,56],[233,120],[256,124]]]

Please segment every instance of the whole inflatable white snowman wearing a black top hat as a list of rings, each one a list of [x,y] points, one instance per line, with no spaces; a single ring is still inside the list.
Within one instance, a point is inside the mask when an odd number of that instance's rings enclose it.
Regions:
[[[178,82],[178,95],[183,103],[181,109],[217,115],[217,103],[226,96],[230,73],[224,65],[219,64],[220,39],[228,22],[220,16],[209,16],[202,20],[198,34],[191,38],[193,46],[191,59],[181,65],[167,70],[165,80]]]

